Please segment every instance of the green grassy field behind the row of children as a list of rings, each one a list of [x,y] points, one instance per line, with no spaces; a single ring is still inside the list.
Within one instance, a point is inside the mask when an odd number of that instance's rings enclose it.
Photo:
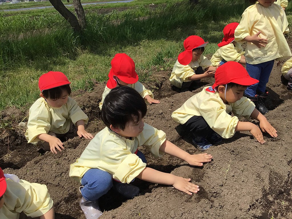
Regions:
[[[107,80],[116,53],[133,58],[140,81],[154,80],[154,70],[171,71],[187,36],[209,41],[204,54],[213,54],[223,27],[239,22],[246,8],[239,0],[201,0],[197,6],[168,2],[156,8],[148,6],[152,2],[135,0],[128,10],[105,15],[87,10],[88,28],[79,35],[56,11],[0,16],[0,109],[30,106],[39,97],[40,75],[52,70],[64,72],[73,90],[90,91],[95,82]]]

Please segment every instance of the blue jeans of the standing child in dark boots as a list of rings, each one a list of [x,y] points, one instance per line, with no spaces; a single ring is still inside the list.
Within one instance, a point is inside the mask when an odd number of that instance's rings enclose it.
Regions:
[[[257,91],[266,91],[266,85],[269,81],[273,65],[274,60],[255,65],[246,63],[246,71],[248,72],[249,76],[260,81],[259,83],[250,85],[246,88],[244,92],[246,96],[253,97],[256,95]]]

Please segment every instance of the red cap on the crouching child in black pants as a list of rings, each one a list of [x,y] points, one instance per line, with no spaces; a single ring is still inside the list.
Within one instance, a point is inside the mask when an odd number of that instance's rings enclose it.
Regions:
[[[235,84],[249,86],[259,81],[250,77],[246,69],[238,62],[229,61],[219,66],[215,73],[215,83],[212,88],[233,82]]]

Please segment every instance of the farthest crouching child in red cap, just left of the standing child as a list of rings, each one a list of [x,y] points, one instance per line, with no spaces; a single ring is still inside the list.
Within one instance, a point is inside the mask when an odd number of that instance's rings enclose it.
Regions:
[[[234,61],[245,65],[244,51],[241,44],[234,41],[234,30],[239,23],[227,24],[223,29],[224,38],[220,47],[212,56],[211,62],[213,66],[223,65],[225,62]]]

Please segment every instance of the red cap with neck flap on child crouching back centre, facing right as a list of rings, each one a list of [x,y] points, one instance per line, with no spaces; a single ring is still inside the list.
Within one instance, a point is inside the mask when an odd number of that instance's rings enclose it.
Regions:
[[[185,41],[183,42],[183,46],[185,47],[185,51],[180,53],[178,55],[178,62],[182,65],[188,65],[192,61],[193,58],[193,52],[192,50],[195,48],[204,47],[208,44],[208,42],[205,42],[201,37],[199,36],[189,36]]]

